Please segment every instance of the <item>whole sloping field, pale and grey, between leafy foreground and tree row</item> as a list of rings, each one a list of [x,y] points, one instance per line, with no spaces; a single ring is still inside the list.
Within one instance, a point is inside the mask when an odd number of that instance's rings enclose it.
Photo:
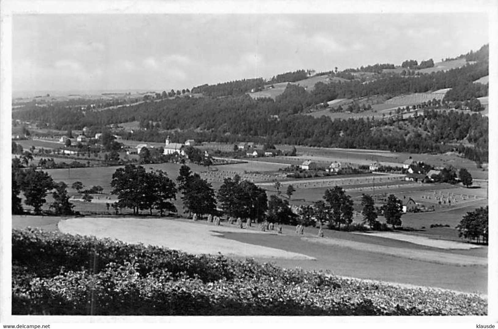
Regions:
[[[262,261],[271,257],[272,262],[286,267],[324,269],[336,275],[486,293],[486,257],[474,250],[441,249],[333,231],[326,231],[325,238],[315,238],[316,229],[310,228],[305,229],[301,239],[293,234],[292,227],[285,227],[284,234],[277,236],[223,225],[186,220],[80,218],[61,221],[59,228],[72,234],[110,236],[129,243],[143,242],[193,253],[220,251]],[[163,232],[168,232],[167,239]],[[483,253],[487,247],[479,249]],[[258,257],[258,253],[264,255]],[[307,257],[314,260],[304,260]],[[462,266],[464,263],[474,265]]]

